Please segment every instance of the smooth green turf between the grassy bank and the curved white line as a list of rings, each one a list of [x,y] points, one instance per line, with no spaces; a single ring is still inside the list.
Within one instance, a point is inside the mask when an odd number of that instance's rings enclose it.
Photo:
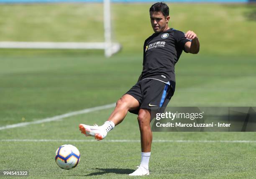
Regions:
[[[255,65],[253,57],[185,55],[176,66],[170,105],[253,106]],[[4,57],[0,69],[0,125],[5,125],[115,102],[138,79],[141,58]]]

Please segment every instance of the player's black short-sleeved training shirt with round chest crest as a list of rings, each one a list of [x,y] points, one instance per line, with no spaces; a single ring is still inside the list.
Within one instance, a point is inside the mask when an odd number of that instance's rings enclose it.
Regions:
[[[182,50],[185,51],[184,45],[188,41],[183,32],[173,28],[148,37],[143,46],[141,79],[154,78],[170,82],[174,91],[174,66],[179,60]]]

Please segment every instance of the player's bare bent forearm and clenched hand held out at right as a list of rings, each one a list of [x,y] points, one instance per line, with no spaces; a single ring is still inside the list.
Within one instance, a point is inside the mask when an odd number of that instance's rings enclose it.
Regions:
[[[190,40],[189,42],[185,43],[185,50],[188,53],[197,54],[200,49],[200,43],[197,34],[195,34],[193,31],[187,31],[187,33],[185,33],[185,37]]]

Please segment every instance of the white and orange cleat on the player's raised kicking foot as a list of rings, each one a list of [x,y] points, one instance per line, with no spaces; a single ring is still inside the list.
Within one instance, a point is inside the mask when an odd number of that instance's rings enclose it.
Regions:
[[[105,138],[107,136],[107,131],[104,130],[101,126],[98,126],[96,124],[93,126],[79,124],[79,130],[85,136],[92,136],[98,141],[102,140],[103,138]]]

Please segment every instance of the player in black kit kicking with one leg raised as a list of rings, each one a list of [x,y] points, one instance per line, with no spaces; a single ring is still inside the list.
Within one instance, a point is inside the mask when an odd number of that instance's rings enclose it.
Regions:
[[[102,140],[123,121],[128,111],[137,114],[141,133],[141,164],[129,174],[131,176],[149,175],[152,143],[150,122],[154,118],[154,111],[163,112],[174,94],[174,66],[182,51],[197,54],[200,46],[193,31],[184,34],[169,28],[169,7],[165,3],[152,5],[149,14],[155,33],[144,43],[143,71],[138,82],[116,102],[115,110],[103,125],[79,125],[81,133]]]

